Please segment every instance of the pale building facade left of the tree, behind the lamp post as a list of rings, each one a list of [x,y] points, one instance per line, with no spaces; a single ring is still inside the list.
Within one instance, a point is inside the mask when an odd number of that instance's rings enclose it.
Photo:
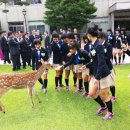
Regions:
[[[0,6],[0,20],[2,30],[31,32],[33,29],[43,33],[49,31],[49,26],[43,22],[45,13],[45,0],[27,0],[28,6],[16,5],[15,0],[9,0],[6,8],[9,10],[3,13],[4,4]]]

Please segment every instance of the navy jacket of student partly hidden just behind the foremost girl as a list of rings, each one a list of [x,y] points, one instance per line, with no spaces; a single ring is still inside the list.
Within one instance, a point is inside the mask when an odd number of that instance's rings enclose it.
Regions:
[[[113,52],[112,51],[112,45],[110,43],[105,42],[103,44],[103,46],[104,46],[106,64],[108,65],[108,68],[110,70],[112,70],[112,68],[113,68],[113,65],[112,65],[112,62],[111,62],[112,52]]]

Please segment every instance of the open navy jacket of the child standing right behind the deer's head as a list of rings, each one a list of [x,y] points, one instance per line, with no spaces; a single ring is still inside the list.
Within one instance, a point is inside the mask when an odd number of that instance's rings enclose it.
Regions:
[[[40,59],[43,61],[48,61],[48,53],[45,48],[40,49]],[[35,48],[32,51],[32,70],[37,70],[41,66],[41,62],[38,60],[38,50]]]

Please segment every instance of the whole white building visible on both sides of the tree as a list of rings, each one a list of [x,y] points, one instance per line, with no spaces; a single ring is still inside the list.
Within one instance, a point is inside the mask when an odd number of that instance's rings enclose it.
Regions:
[[[49,30],[44,24],[45,0],[27,0],[29,6],[15,5],[15,0],[9,0],[8,13],[3,13],[3,5],[0,6],[0,20],[3,30],[19,31],[26,30],[23,9],[26,10],[27,30],[39,29],[41,32]],[[106,31],[108,28],[114,30],[117,27],[125,27],[130,31],[130,0],[91,0],[95,2],[97,17],[92,22]]]

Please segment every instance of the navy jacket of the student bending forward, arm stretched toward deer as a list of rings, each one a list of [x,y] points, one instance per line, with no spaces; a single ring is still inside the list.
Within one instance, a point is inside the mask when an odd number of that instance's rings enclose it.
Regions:
[[[77,50],[77,54],[78,54],[78,59],[79,59],[79,63],[78,64],[87,64],[90,62],[90,57],[89,57],[89,53],[85,50]],[[64,65],[64,68],[74,64],[76,64],[76,58],[75,58],[75,54],[72,55],[71,59]]]

